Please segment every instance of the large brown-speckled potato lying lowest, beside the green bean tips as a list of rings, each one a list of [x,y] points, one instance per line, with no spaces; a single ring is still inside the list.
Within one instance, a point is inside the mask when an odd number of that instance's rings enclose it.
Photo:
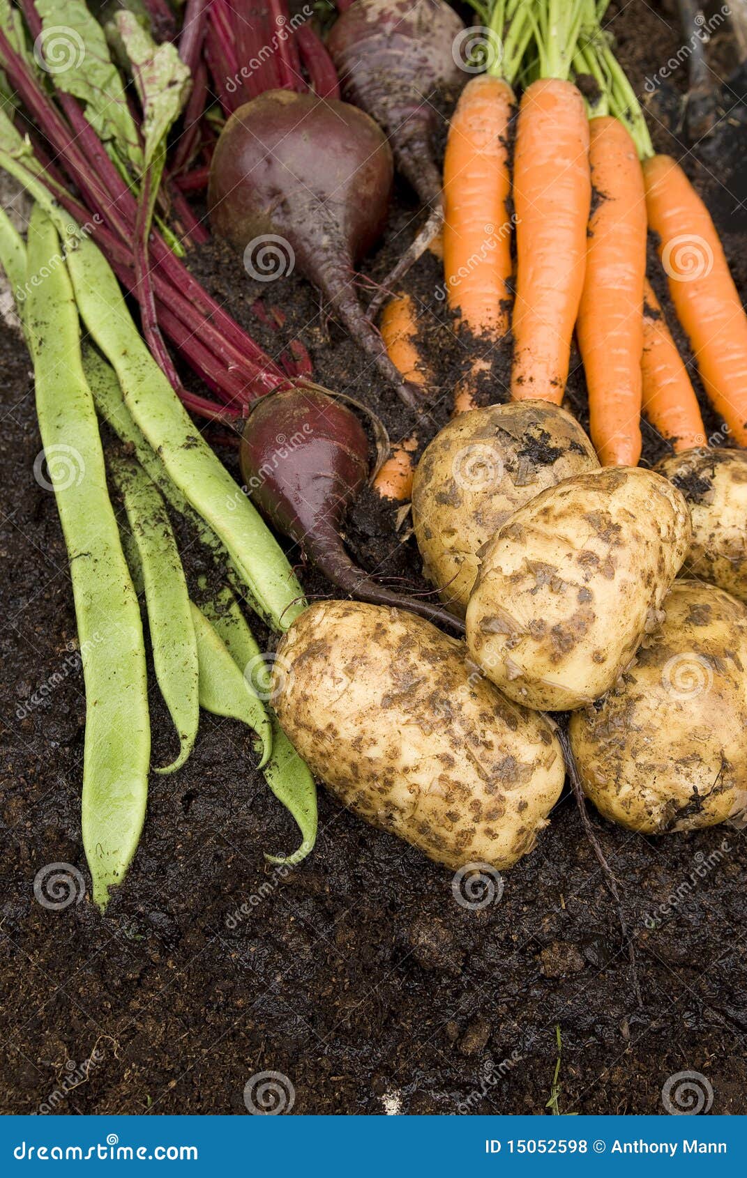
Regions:
[[[298,753],[362,818],[458,868],[531,851],[563,786],[543,716],[462,642],[404,610],[319,601],[284,635],[272,700]]]

